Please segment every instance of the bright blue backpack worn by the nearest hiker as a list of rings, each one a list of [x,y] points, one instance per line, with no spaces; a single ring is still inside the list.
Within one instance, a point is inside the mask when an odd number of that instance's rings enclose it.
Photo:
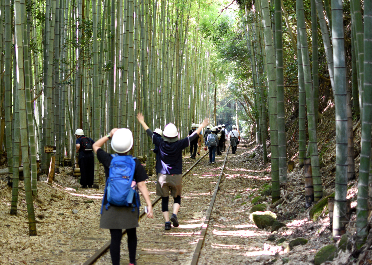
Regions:
[[[135,159],[137,158],[132,156],[119,156],[118,154],[112,154],[111,156],[110,174],[106,181],[101,214],[105,197],[108,201],[106,210],[108,210],[111,204],[127,207],[132,205],[132,212],[134,212],[135,207],[137,207],[139,213],[141,205],[140,194],[138,193],[138,188],[136,190],[135,187],[131,187],[136,167]]]

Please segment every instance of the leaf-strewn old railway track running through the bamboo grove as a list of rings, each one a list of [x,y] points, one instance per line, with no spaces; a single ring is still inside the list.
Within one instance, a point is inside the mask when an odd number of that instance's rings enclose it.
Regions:
[[[140,226],[137,228],[137,265],[142,264],[198,264],[199,255],[208,229],[219,183],[223,175],[230,144],[221,157],[216,156],[216,164],[209,162],[209,152],[205,153],[183,174],[182,201],[178,213],[180,226],[164,231],[164,220],[161,213],[161,199],[157,196],[152,201],[155,219],[143,218],[140,212]],[[224,158],[223,160],[221,158]],[[195,179],[197,181],[195,181]],[[149,186],[149,185],[148,185]],[[151,192],[152,187],[149,187]],[[170,199],[171,201],[172,199]],[[209,206],[208,206],[209,204]],[[143,205],[143,203],[142,203]],[[170,206],[171,212],[171,206]],[[123,231],[123,235],[125,230]],[[126,238],[122,239],[121,260],[128,258]],[[88,258],[83,265],[111,264],[110,241]],[[190,263],[191,262],[191,263]],[[123,264],[126,264],[124,262]]]

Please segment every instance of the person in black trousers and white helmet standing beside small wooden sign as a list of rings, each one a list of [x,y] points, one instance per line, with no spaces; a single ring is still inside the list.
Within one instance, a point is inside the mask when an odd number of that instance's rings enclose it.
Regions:
[[[92,138],[85,137],[84,131],[77,129],[76,136],[76,153],[78,155],[78,165],[80,168],[80,185],[82,188],[92,188],[94,181],[94,141]]]

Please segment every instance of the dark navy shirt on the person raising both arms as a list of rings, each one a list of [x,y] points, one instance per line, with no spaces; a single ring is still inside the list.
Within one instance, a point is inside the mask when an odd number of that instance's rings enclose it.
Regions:
[[[182,174],[182,150],[190,145],[190,141],[197,136],[196,133],[174,143],[164,141],[155,135],[150,129],[146,133],[151,137],[153,144],[159,148],[159,161],[156,164],[156,172],[161,174]]]

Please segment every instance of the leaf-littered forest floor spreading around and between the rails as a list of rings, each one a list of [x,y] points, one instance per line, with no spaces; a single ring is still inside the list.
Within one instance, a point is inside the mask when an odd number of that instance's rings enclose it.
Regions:
[[[319,154],[321,161],[324,196],[334,191],[335,179],[335,124],[334,106],[332,104],[323,112],[324,120],[318,127]],[[277,220],[286,226],[271,232],[270,228],[259,229],[249,219],[254,206],[252,201],[260,196],[265,185],[270,184],[270,163],[264,164],[262,145],[242,140],[238,146],[237,155],[229,152],[221,190],[218,192],[211,222],[207,231],[199,264],[314,264],[314,256],[323,246],[337,243],[332,241],[332,232],[327,206],[323,207],[320,215],[312,220],[310,210],[305,209],[303,170],[298,166],[298,135],[295,132],[295,121],[287,119],[287,145],[289,159],[295,161],[295,169],[288,173],[288,184],[281,189],[282,203],[272,207],[271,196],[267,195],[262,202],[267,210],[276,213]],[[355,163],[356,179],[349,182],[348,199],[352,200],[352,209],[356,207],[357,178],[359,170],[360,127],[355,122]],[[294,138],[293,138],[294,136]],[[270,154],[270,141],[267,141]],[[202,149],[202,154],[205,151]],[[255,153],[256,156],[251,158]],[[225,153],[222,153],[223,156]],[[222,158],[221,158],[222,159]],[[206,159],[204,159],[206,160]],[[188,169],[195,160],[189,155],[184,156],[184,170]],[[222,163],[222,162],[221,162]],[[210,167],[210,166],[209,166]],[[219,164],[214,165],[220,168]],[[35,213],[38,216],[38,236],[28,236],[26,205],[23,183],[20,182],[19,211],[17,216],[10,216],[11,189],[6,182],[0,182],[0,259],[2,264],[83,264],[97,249],[109,240],[109,232],[99,228],[99,211],[104,188],[103,167],[100,168],[100,189],[80,189],[80,184],[69,176],[71,167],[61,169],[55,182],[49,186],[45,177],[38,182],[39,197],[35,200]],[[206,163],[200,165],[203,170],[184,179],[183,185],[195,189],[199,181],[205,177]],[[217,174],[217,173],[209,173]],[[147,181],[151,199],[155,198],[155,176]],[[209,181],[214,183],[213,179]],[[209,189],[209,188],[208,188]],[[192,192],[192,190],[190,191]],[[192,194],[192,195],[190,195]],[[206,200],[197,205],[198,209],[187,212],[186,206],[191,207],[195,202],[187,202],[195,194],[185,193],[185,204],[179,214],[180,227],[171,229],[173,245],[160,246],[156,242],[159,237],[166,240],[163,221],[159,206],[155,206],[155,220],[142,219],[138,229],[138,264],[189,264],[195,241],[190,237],[182,238],[192,229],[198,228],[203,222],[201,217],[209,202]],[[203,193],[204,194],[204,193]],[[209,197],[211,192],[204,196]],[[93,201],[93,202],[89,202]],[[185,208],[183,208],[185,207]],[[199,209],[200,208],[200,209]],[[78,210],[73,214],[72,210]],[[199,212],[202,213],[199,215]],[[347,235],[350,242],[355,237],[355,210],[352,210],[351,222],[347,225]],[[195,226],[189,227],[191,224]],[[146,229],[151,229],[157,238],[150,238]],[[191,229],[191,230],[190,230]],[[195,232],[195,231],[194,231]],[[193,232],[193,233],[194,233]],[[194,237],[198,235],[195,232]],[[121,264],[127,264],[126,236],[122,240]],[[290,242],[297,238],[307,239],[304,245],[294,246],[291,250],[280,245],[285,238]],[[187,239],[185,241],[185,239]],[[370,238],[366,247],[371,245]],[[151,254],[151,251],[167,249],[165,253]],[[184,251],[182,251],[182,249]],[[174,254],[170,254],[170,252]],[[371,264],[369,251],[356,251],[354,247],[346,252],[340,252],[333,262],[327,264]],[[99,264],[110,264],[109,254],[103,256]]]

